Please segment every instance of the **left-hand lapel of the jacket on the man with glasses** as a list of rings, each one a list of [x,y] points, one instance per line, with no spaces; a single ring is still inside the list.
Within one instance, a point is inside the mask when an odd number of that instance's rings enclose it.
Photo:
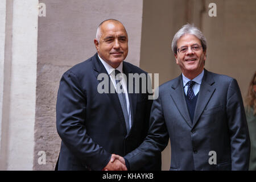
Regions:
[[[185,96],[184,96],[184,89],[183,89],[183,83],[182,83],[182,75],[180,75],[177,79],[176,82],[172,85],[171,89],[171,97],[172,100],[174,100],[174,103],[179,110],[180,114],[184,118],[185,122],[192,127],[192,122],[189,117],[188,113],[188,107],[187,103],[185,101]]]

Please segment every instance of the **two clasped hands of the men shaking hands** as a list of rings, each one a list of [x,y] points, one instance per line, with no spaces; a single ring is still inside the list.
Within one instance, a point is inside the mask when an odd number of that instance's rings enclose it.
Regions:
[[[127,171],[125,159],[122,156],[112,154],[109,163],[102,169],[102,171]]]

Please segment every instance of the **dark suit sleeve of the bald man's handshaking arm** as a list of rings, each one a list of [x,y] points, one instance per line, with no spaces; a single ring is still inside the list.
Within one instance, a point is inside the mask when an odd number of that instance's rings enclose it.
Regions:
[[[86,132],[86,93],[76,75],[70,71],[60,80],[56,103],[56,127],[61,140],[81,163],[92,170],[101,170],[111,154]]]

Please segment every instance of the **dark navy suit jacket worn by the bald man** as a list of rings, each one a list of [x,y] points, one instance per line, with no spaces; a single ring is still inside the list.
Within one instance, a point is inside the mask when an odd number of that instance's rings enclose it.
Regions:
[[[127,86],[128,73],[146,73],[126,62],[123,72],[127,75]],[[62,140],[56,166],[59,170],[101,170],[111,154],[124,156],[146,137],[152,105],[148,93],[129,94],[132,126],[127,133],[117,94],[97,92],[100,73],[108,75],[96,53],[61,77],[56,104],[56,126]],[[139,85],[141,88],[141,82]],[[160,170],[160,167],[158,152],[156,158],[139,169]]]

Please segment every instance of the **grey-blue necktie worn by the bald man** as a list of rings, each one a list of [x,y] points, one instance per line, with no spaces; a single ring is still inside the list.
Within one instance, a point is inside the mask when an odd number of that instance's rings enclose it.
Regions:
[[[118,85],[118,83],[121,81],[120,77],[118,78],[118,76],[117,76],[119,73],[121,73],[121,72],[119,72],[117,69],[115,69],[115,82],[117,84],[117,96],[119,98],[119,102],[120,102],[122,110],[123,110],[123,117],[125,117],[126,130],[127,130],[127,133],[128,133],[129,130],[130,130],[129,114],[128,114],[128,111],[127,111],[126,98],[125,98],[125,93],[123,92],[122,85],[120,85],[120,86]]]

